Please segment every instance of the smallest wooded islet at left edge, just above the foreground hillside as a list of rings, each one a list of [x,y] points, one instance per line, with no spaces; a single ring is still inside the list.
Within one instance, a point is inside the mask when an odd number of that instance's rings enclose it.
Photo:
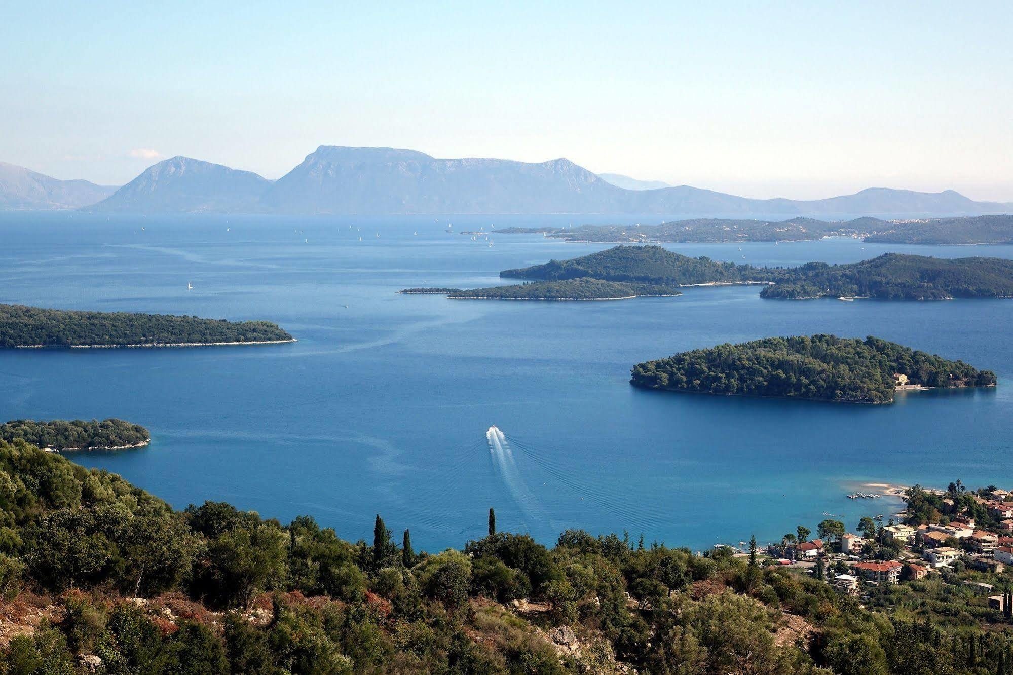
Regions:
[[[17,439],[47,450],[108,450],[143,447],[151,441],[151,434],[141,425],[111,418],[101,422],[12,420],[0,425],[0,441]]]

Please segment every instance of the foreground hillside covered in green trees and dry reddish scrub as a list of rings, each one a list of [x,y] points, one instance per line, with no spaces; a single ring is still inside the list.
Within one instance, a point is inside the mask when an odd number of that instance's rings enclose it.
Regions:
[[[547,547],[490,509],[461,549],[416,550],[380,515],[353,543],[311,516],[175,511],[21,440],[0,441],[0,482],[10,675],[1007,675],[1013,656],[1013,619],[966,586],[1005,575],[963,562],[943,581],[860,582],[859,602],[829,583],[847,564],[806,574],[755,539],[744,556],[583,530]],[[941,498],[909,493],[912,522],[939,521]],[[782,543],[810,532],[785,529]]]

